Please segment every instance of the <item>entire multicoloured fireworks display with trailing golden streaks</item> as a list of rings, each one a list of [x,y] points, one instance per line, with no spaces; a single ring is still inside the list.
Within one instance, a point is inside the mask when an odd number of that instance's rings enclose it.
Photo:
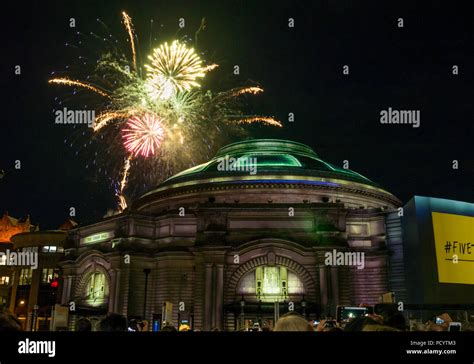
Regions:
[[[156,184],[202,162],[228,135],[241,133],[244,124],[282,126],[272,117],[242,113],[239,99],[263,92],[260,87],[203,90],[199,82],[218,65],[206,65],[184,41],[159,45],[148,56],[149,64],[141,66],[132,19],[125,12],[122,19],[131,61],[114,45],[103,51],[87,82],[70,77],[49,80],[51,84],[82,88],[101,96],[92,135],[100,136],[102,145],[110,146],[112,160],[125,160],[116,173],[120,178],[116,192],[119,210],[127,206],[124,190],[132,180]],[[111,41],[104,41],[112,47]],[[134,168],[141,173],[134,174]],[[144,174],[145,169],[150,173]]]

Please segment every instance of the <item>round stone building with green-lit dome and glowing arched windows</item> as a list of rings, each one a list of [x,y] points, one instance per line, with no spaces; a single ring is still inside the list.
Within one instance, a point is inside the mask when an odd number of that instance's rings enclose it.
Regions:
[[[71,328],[116,312],[202,330],[373,304],[389,290],[385,216],[400,204],[306,145],[234,143],[124,213],[73,229],[61,302],[75,304]],[[363,253],[362,265],[339,253]]]

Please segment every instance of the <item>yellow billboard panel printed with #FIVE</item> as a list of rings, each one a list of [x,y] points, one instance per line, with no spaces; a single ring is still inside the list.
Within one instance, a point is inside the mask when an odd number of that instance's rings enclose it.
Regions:
[[[432,212],[440,283],[474,284],[474,217]]]

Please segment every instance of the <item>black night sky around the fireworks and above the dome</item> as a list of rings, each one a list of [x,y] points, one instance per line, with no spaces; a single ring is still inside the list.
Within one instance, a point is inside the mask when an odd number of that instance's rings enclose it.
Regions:
[[[70,127],[54,123],[54,97],[71,90],[47,80],[52,71],[75,62],[64,44],[77,30],[101,30],[97,18],[126,44],[122,10],[133,19],[142,52],[149,49],[151,18],[157,44],[173,39],[179,18],[186,21],[179,36],[194,37],[205,17],[199,50],[220,64],[208,86],[256,82],[265,93],[249,98],[248,111],[285,122],[282,129],[252,128],[253,136],[308,144],[336,165],[347,159],[352,170],[404,203],[413,195],[474,202],[472,3],[104,3],[2,4],[0,213],[30,214],[46,229],[59,226],[71,206],[81,224],[115,207],[110,183],[94,177],[91,166],[85,168],[87,156],[76,156],[64,143]],[[76,28],[69,27],[71,17]],[[294,18],[294,28],[288,27],[288,18]],[[397,27],[398,18],[403,28]],[[19,76],[15,65],[21,65]],[[232,74],[233,65],[240,66],[239,76]],[[343,75],[344,65],[349,75]],[[459,75],[452,74],[453,65],[459,66]],[[388,107],[420,110],[421,126],[382,125],[380,111]],[[287,122],[290,112],[293,123]],[[458,170],[452,168],[455,159]],[[15,160],[21,161],[20,170],[14,169]]]

